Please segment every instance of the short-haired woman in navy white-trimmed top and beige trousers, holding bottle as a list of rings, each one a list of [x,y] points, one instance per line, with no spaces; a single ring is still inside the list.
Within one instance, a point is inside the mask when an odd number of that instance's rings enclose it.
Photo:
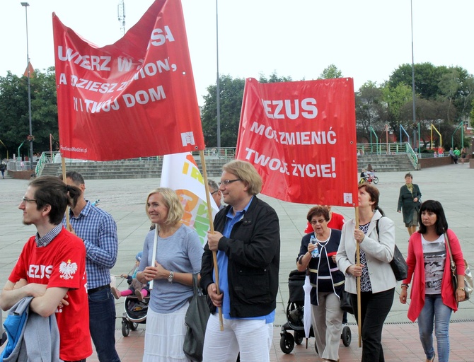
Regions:
[[[328,228],[329,211],[324,206],[314,206],[306,218],[314,232],[304,235],[301,240],[296,268],[299,271],[308,268],[310,272],[313,286],[311,320],[318,354],[323,361],[339,361],[343,315],[340,296],[344,290],[344,274],[337,269],[335,257],[341,232]]]

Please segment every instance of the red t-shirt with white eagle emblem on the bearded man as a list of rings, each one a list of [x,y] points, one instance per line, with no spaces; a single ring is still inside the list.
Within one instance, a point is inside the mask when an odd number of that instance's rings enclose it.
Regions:
[[[86,289],[86,247],[66,229],[45,247],[37,247],[32,236],[23,247],[9,281],[47,284],[48,288],[69,288],[69,305],[56,310],[59,328],[59,358],[79,361],[92,354]]]

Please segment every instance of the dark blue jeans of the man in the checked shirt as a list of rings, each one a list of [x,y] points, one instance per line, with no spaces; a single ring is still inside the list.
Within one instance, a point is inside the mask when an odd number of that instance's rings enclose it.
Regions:
[[[110,288],[88,295],[89,330],[100,362],[120,362],[115,351],[115,299]]]

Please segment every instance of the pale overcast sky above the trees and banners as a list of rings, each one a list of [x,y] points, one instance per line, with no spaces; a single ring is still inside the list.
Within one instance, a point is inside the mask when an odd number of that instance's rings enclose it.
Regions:
[[[412,62],[410,0],[218,0],[219,73],[233,78],[291,76],[316,79],[329,64],[354,78],[382,83]],[[54,66],[52,12],[89,42],[121,36],[119,0],[29,0],[30,61]],[[152,0],[125,0],[125,28]],[[216,1],[182,0],[198,102],[216,82]],[[415,63],[462,66],[474,73],[473,0],[412,0]],[[25,8],[1,0],[0,76],[26,68]]]

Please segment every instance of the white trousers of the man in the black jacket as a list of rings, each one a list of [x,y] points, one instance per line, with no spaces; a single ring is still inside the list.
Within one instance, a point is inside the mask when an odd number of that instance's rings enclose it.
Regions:
[[[270,362],[273,324],[265,320],[226,320],[224,331],[219,326],[219,315],[211,315],[207,322],[202,362]]]

